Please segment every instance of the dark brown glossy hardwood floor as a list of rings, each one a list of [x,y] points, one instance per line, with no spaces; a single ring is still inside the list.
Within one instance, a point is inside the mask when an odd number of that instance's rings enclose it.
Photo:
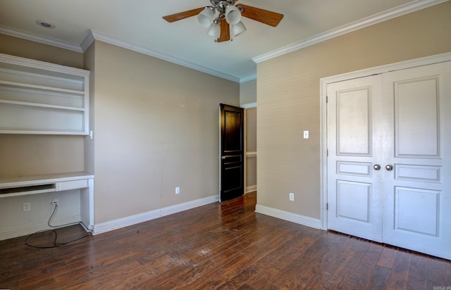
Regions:
[[[451,289],[449,260],[254,213],[255,202],[247,194],[58,248],[0,241],[0,289]],[[58,242],[84,234],[58,229]]]

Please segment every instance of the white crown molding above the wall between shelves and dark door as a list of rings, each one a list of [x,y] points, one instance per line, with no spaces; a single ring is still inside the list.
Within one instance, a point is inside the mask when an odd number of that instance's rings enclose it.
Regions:
[[[92,35],[92,37],[91,37],[90,34]],[[170,63],[175,63],[175,64],[178,64],[178,65],[183,65],[183,66],[185,66],[187,68],[192,68],[193,70],[199,70],[202,73],[207,73],[209,75],[214,75],[216,77],[221,77],[223,79],[230,80],[232,82],[240,82],[240,79],[238,77],[233,77],[232,75],[227,75],[225,73],[220,73],[217,70],[211,70],[209,68],[205,68],[202,65],[196,65],[196,64],[190,63],[188,61],[183,61],[180,58],[175,58],[173,56],[168,56],[165,53],[161,53],[159,51],[154,51],[152,49],[147,49],[147,48],[145,48],[143,46],[137,46],[135,44],[130,44],[128,42],[122,41],[121,39],[116,39],[114,37],[111,37],[109,35],[103,34],[101,32],[97,32],[95,30],[91,30],[91,32],[89,34],[87,34],[87,37],[85,38],[85,40],[83,40],[82,44],[84,44],[84,46],[86,46],[86,44],[88,44],[89,42],[92,42],[94,39],[95,40],[99,40],[101,42],[106,42],[108,44],[113,44],[113,45],[116,45],[116,46],[120,46],[120,47],[122,47],[124,49],[128,49],[128,50],[131,50],[131,51],[136,51],[136,52],[139,52],[139,53],[143,53],[143,54],[145,54],[147,56],[153,56],[155,58],[160,58],[163,61],[168,61]],[[89,43],[89,45],[90,45],[90,43]]]

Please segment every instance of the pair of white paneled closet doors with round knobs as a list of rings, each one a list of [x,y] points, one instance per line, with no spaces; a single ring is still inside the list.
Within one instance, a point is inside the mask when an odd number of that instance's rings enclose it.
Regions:
[[[328,228],[451,259],[451,62],[327,95]]]

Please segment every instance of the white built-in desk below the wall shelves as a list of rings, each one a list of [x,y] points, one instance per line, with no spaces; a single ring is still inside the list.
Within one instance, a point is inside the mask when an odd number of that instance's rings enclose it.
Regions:
[[[94,226],[94,175],[70,172],[51,175],[0,178],[0,198],[80,189],[80,216],[83,224]]]

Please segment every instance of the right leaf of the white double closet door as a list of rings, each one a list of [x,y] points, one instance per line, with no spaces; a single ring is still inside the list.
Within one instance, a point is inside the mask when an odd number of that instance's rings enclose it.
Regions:
[[[451,258],[451,63],[383,75],[394,150],[383,175],[383,241]]]

